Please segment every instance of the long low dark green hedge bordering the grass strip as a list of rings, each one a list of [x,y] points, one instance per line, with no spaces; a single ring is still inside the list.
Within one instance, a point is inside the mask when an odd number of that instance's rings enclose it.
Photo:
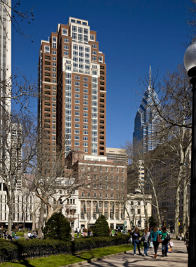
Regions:
[[[0,256],[8,257],[10,254],[18,254],[19,259],[28,258],[28,254],[74,254],[82,250],[89,250],[98,247],[109,247],[115,245],[127,244],[129,236],[114,237],[81,237],[76,238],[72,242],[64,242],[61,240],[15,240],[10,242],[0,240]]]

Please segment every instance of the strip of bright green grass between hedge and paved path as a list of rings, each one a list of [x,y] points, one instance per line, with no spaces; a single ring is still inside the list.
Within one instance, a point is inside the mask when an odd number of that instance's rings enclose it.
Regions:
[[[92,249],[88,252],[79,252],[75,256],[73,255],[58,255],[58,256],[48,256],[46,258],[38,259],[26,259],[16,262],[6,262],[0,263],[0,267],[59,267],[71,263],[77,263],[80,261],[87,261],[89,259],[99,258],[101,256],[107,256],[111,254],[116,254],[119,252],[125,252],[127,250],[133,249],[133,245],[120,245],[115,247],[103,247],[100,249]]]

